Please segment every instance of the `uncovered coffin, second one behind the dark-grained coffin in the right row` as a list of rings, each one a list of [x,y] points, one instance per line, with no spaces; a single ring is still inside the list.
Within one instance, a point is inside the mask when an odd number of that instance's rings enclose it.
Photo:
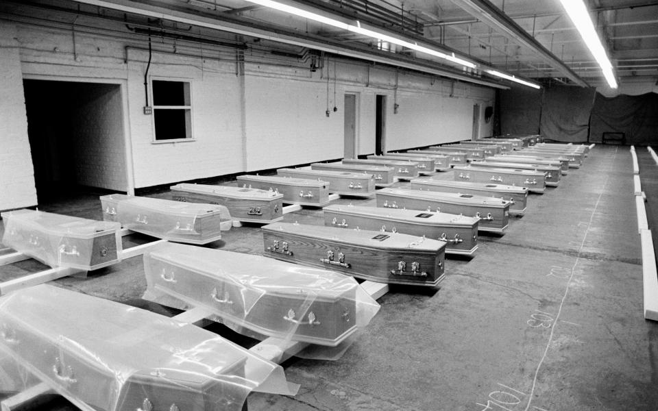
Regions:
[[[479,219],[478,230],[501,233],[509,223],[509,201],[456,192],[382,188],[377,206],[463,214]]]

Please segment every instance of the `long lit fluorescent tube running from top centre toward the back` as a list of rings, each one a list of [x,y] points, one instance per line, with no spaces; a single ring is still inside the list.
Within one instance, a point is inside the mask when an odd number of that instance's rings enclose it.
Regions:
[[[361,23],[358,21],[356,22],[356,25],[351,25],[348,23],[343,23],[342,21],[334,20],[333,18],[328,18],[325,16],[321,16],[320,14],[313,13],[313,12],[308,12],[306,10],[302,10],[300,8],[293,7],[291,5],[287,5],[284,3],[279,3],[278,1],[272,1],[272,0],[247,0],[251,3],[256,3],[259,5],[264,5],[265,7],[273,8],[276,10],[280,10],[282,12],[287,12],[290,14],[294,14],[295,16],[300,16],[304,18],[308,18],[309,20],[317,21],[318,23],[323,23],[326,25],[330,25],[332,27],[337,27],[339,29],[343,30],[348,30],[349,32],[356,33],[356,34],[361,34],[363,36],[375,38],[377,40],[382,40],[385,42],[390,42],[393,43],[394,45],[399,45],[406,47],[408,49],[412,49],[415,51],[419,51],[421,53],[433,55],[438,58],[443,58],[445,60],[454,62],[456,64],[461,64],[463,66],[470,67],[471,69],[475,69],[476,65],[470,61],[463,60],[462,58],[456,57],[454,53],[451,54],[446,54],[446,53],[441,53],[441,51],[429,49],[428,47],[423,47],[417,45],[415,42],[409,42],[406,40],[402,40],[400,38],[395,38],[393,36],[389,36],[387,34],[379,33],[379,32],[374,32],[369,29],[365,29],[361,27]]]

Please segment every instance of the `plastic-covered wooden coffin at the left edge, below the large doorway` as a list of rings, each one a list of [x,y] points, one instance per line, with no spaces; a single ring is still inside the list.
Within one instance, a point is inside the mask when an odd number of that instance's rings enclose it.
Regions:
[[[34,210],[0,214],[2,243],[51,267],[95,270],[121,260],[121,224]]]

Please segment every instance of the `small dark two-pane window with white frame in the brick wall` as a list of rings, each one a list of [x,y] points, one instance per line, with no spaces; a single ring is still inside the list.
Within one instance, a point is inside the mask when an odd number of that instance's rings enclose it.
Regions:
[[[156,141],[192,138],[192,105],[189,82],[152,80]]]

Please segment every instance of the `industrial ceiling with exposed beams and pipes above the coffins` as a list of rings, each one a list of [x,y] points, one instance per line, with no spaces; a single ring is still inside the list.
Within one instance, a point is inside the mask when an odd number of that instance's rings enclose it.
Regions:
[[[247,0],[33,0],[45,7],[68,4],[77,12],[99,10],[148,18],[160,32],[177,24],[196,27],[206,40],[238,34],[245,47],[302,55],[323,52],[494,87],[511,82],[502,71],[539,84],[605,84],[558,0],[277,0],[347,25],[364,27],[446,55],[475,68],[361,32],[317,23]],[[658,80],[658,1],[589,0],[599,36],[620,84]],[[65,7],[65,6],[64,6]],[[82,8],[81,8],[82,7]],[[84,9],[87,7],[87,9]],[[110,16],[103,12],[103,16]],[[154,23],[155,22],[155,23]],[[213,37],[214,36],[214,37]],[[311,63],[312,64],[312,63]]]

